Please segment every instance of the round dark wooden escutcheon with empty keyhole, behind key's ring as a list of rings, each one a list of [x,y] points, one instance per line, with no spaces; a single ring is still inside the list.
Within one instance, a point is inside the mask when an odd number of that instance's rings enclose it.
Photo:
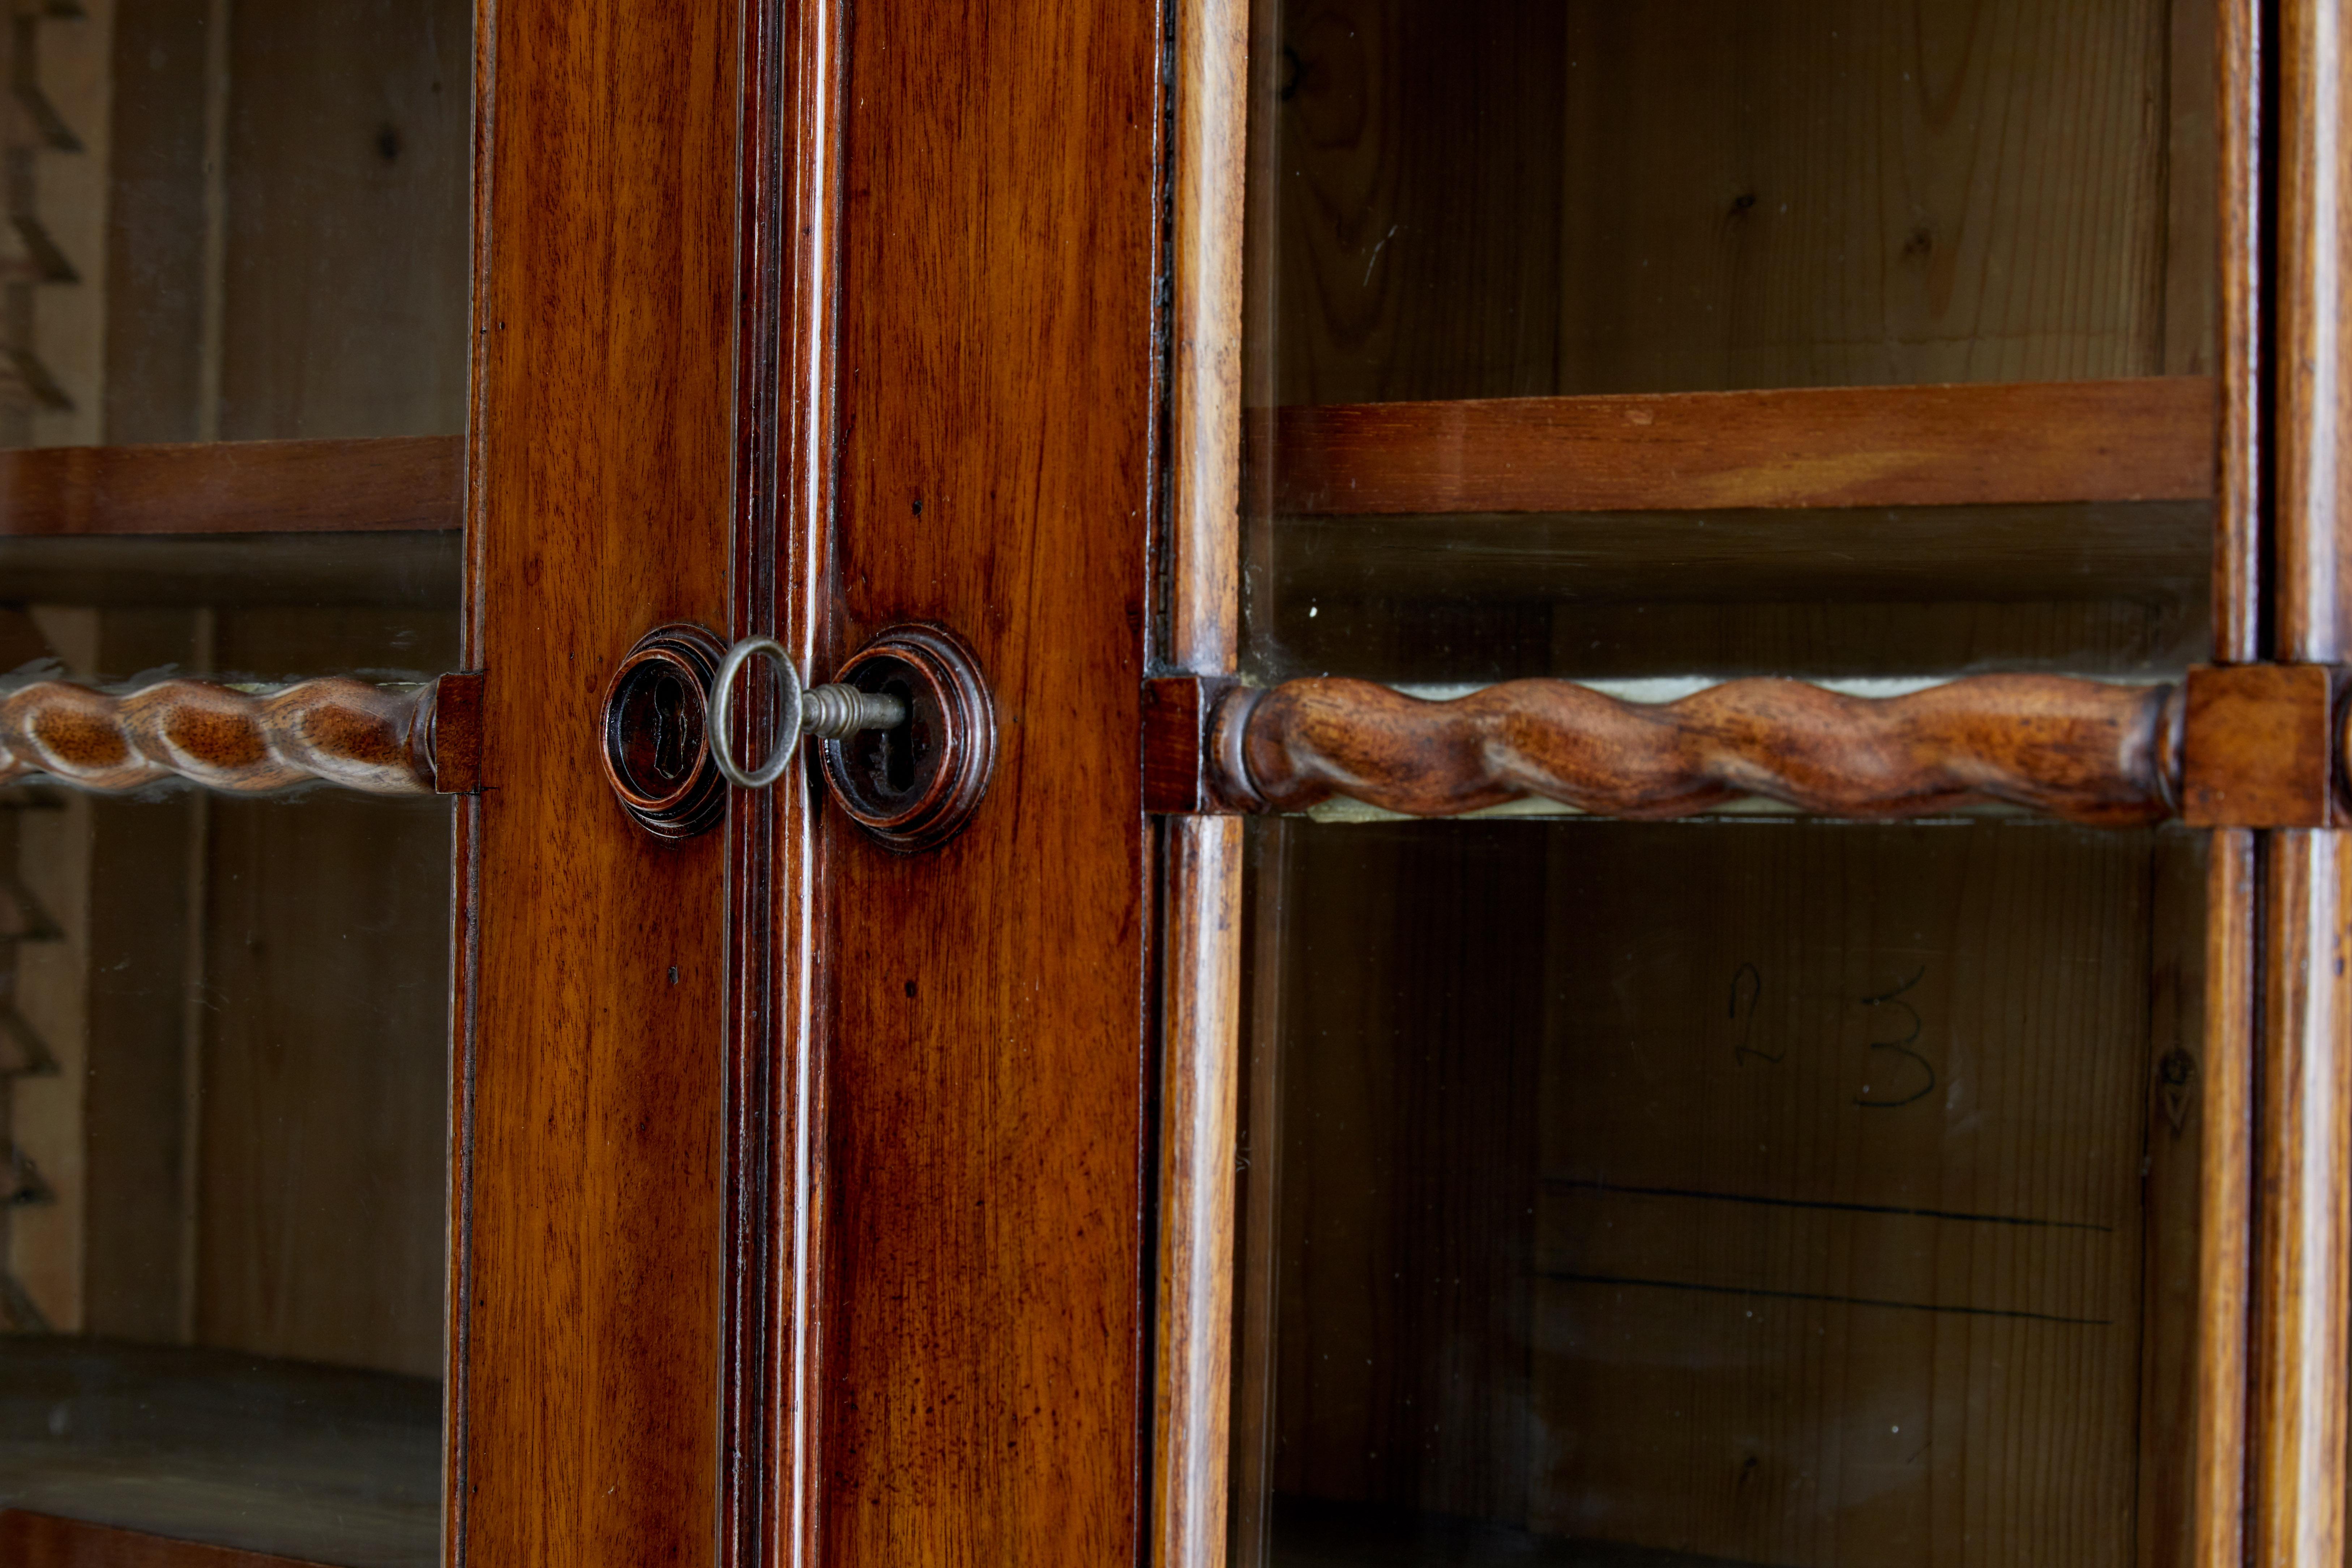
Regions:
[[[691,839],[727,816],[727,780],[710,759],[710,677],[727,656],[713,632],[656,625],[604,686],[604,780],[637,825]]]

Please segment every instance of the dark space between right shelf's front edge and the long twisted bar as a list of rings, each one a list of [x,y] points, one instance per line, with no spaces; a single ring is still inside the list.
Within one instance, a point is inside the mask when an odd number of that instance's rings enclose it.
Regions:
[[[1249,661],[1268,682],[2161,679],[2211,646],[2211,564],[2204,501],[1277,517]]]

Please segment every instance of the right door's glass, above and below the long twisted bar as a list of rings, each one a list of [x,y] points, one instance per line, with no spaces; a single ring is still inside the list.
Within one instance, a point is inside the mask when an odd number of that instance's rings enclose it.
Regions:
[[[2209,658],[2211,5],[1268,7],[1254,684]],[[2199,835],[1251,832],[1235,1563],[2187,1561]]]

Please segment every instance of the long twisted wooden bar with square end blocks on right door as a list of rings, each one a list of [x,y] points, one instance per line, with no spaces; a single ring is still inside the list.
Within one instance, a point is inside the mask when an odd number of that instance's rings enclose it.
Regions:
[[[1425,701],[1359,679],[1270,691],[1169,677],[1143,691],[1143,809],[1406,816],[1555,799],[1672,818],[1740,797],[1844,818],[2009,804],[2096,827],[2352,820],[2352,672],[2199,665],[2180,684],[1973,675],[1893,698],[1736,679],[1630,703],[1564,679]]]

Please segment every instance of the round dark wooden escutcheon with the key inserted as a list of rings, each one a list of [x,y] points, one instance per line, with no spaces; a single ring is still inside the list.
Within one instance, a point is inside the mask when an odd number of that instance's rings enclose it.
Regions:
[[[894,625],[833,677],[906,703],[906,722],[826,741],[826,783],[866,832],[901,853],[946,844],[988,795],[997,708],[953,632]]]

